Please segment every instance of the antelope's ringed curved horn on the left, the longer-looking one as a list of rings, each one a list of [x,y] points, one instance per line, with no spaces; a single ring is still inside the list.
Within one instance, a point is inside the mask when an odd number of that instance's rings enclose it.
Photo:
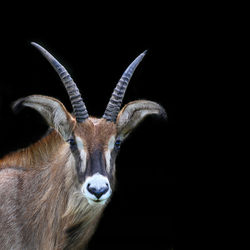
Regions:
[[[55,69],[57,74],[60,76],[61,81],[63,82],[69,95],[76,120],[79,123],[83,122],[89,117],[88,111],[82,100],[79,89],[77,88],[70,74],[46,49],[44,49],[37,43],[32,42],[31,44],[42,53],[42,55],[49,61],[49,63]]]

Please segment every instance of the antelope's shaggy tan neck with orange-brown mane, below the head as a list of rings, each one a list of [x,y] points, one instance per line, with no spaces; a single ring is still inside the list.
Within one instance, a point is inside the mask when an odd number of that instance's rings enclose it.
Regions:
[[[22,171],[20,214],[30,248],[78,249],[99,221],[103,206],[90,206],[80,191],[69,145],[56,131],[0,160],[0,168]],[[29,247],[28,247],[29,249]]]

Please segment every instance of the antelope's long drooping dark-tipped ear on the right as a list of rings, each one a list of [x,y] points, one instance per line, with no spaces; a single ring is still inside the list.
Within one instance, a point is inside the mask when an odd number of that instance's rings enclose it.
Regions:
[[[128,103],[117,117],[118,135],[121,139],[126,138],[145,117],[152,114],[167,118],[164,108],[156,102],[140,100]]]

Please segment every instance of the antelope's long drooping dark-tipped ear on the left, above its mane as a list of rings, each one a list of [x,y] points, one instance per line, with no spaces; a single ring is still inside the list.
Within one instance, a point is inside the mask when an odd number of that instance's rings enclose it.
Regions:
[[[31,95],[18,99],[12,108],[17,111],[23,106],[38,111],[49,126],[56,129],[65,141],[69,139],[76,121],[60,101],[48,96]]]

